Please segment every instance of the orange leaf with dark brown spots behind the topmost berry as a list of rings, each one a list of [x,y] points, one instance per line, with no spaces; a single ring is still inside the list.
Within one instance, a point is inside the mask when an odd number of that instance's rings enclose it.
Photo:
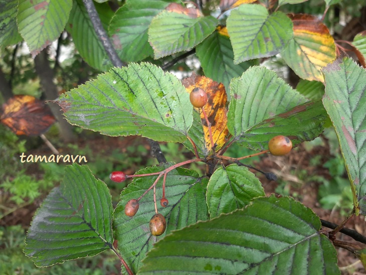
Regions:
[[[216,150],[222,148],[226,143],[229,134],[227,127],[228,119],[226,116],[228,111],[226,108],[226,102],[228,98],[224,85],[222,83],[217,83],[211,78],[196,75],[195,73],[193,73],[191,77],[184,79],[182,83],[189,93],[191,93],[196,87],[200,87],[206,91],[208,101],[204,108],[211,123],[212,137],[214,144],[217,144]],[[209,128],[201,109],[200,116],[205,134],[206,147],[210,151],[212,147]]]

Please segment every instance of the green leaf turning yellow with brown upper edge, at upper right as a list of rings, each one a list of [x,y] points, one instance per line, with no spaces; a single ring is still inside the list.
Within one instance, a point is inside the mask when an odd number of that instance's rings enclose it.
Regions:
[[[287,65],[302,79],[324,81],[321,68],[335,60],[334,39],[328,28],[312,15],[288,15],[294,37],[282,52]]]

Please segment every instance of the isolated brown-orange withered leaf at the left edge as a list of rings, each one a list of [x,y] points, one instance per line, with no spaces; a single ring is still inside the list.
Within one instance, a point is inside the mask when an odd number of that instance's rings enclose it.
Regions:
[[[55,121],[50,108],[30,95],[16,95],[3,105],[0,121],[17,135],[40,135]]]

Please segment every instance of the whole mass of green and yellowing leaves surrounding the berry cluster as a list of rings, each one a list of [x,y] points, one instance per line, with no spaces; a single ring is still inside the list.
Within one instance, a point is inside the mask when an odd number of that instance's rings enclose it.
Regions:
[[[55,100],[70,123],[111,136],[142,135],[182,143],[209,167],[209,177],[176,168],[166,175],[164,187],[156,186],[158,195],[166,188],[169,205],[159,209],[167,220],[166,231],[155,237],[148,230],[154,213],[152,196],[140,200],[133,218],[124,214],[124,207],[141,196],[156,175],[134,178],[113,210],[106,185],[86,166],[69,166],[60,187],[37,211],[27,235],[25,252],[37,265],[111,249],[125,267],[141,273],[339,273],[334,247],[319,232],[319,218],[310,209],[291,198],[264,197],[259,180],[237,162],[214,168],[233,143],[267,150],[276,135],[288,136],[294,146],[310,141],[322,132],[329,115],[341,144],[355,211],[364,214],[366,72],[345,56],[335,59],[334,39],[317,17],[281,12],[282,5],[303,1],[280,0],[273,13],[271,2],[267,6],[251,2],[221,1],[222,13],[236,8],[226,22],[169,1],[127,0],[115,13],[106,3],[100,4],[101,22],[118,56],[131,62],[111,68],[81,0],[19,5],[18,0],[0,1],[6,11],[0,13],[6,23],[0,45],[23,38],[37,55],[66,27],[90,66],[109,69]],[[331,4],[325,2],[327,7]],[[352,44],[362,65],[365,40],[360,33]],[[182,83],[151,63],[132,63],[192,49],[206,76],[193,75]],[[253,66],[258,59],[279,53],[306,81],[299,87],[303,94],[274,72]],[[319,94],[311,91],[321,89],[322,82],[325,96],[316,100]],[[189,100],[196,87],[208,95],[201,109],[193,108]],[[136,174],[157,173],[172,165]]]

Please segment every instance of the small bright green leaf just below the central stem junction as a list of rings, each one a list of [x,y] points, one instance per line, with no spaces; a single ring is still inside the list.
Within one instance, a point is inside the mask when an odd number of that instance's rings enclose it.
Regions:
[[[236,164],[217,169],[207,186],[207,206],[210,218],[230,213],[248,205],[253,198],[264,196],[259,179],[243,166]]]

